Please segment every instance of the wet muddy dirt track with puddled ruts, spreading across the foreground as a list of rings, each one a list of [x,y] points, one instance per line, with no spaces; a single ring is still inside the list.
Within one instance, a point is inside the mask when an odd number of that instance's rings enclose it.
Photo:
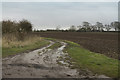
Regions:
[[[90,71],[80,73],[80,70],[71,69],[70,63],[60,59],[68,56],[63,53],[67,44],[60,42],[61,47],[51,50],[48,47],[55,42],[50,43],[41,49],[3,58],[3,78],[108,78]]]

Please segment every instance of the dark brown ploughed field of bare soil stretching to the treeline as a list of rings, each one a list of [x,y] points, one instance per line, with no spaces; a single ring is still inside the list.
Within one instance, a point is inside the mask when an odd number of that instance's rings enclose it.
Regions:
[[[76,42],[92,52],[118,59],[118,33],[114,32],[36,32],[41,37]]]

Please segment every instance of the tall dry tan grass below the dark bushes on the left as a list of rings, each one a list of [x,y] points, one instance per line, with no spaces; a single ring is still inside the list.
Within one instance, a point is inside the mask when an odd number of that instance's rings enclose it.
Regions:
[[[13,34],[6,34],[3,35],[2,37],[2,47],[11,48],[11,47],[26,46],[41,40],[42,38],[36,35],[27,35],[26,37],[24,37],[23,41],[20,41]]]

